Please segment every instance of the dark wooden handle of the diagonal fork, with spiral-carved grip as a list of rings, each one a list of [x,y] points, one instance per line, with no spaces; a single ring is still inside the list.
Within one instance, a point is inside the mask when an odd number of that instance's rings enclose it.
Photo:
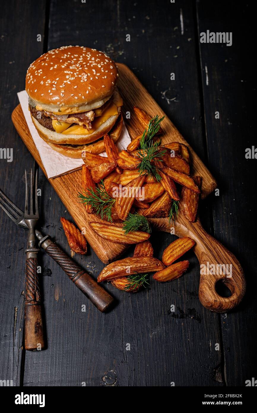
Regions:
[[[114,301],[113,297],[65,254],[57,244],[51,242],[50,245],[46,247],[44,243],[41,246],[100,311],[104,312],[111,306]]]

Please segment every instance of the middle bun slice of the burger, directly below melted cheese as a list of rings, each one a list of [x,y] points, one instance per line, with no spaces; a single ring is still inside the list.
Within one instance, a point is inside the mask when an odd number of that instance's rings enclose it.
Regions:
[[[55,131],[50,131],[50,129],[45,128],[44,126],[40,125],[40,123],[31,116],[31,119],[35,125],[35,128],[38,131],[39,136],[44,139],[47,143],[56,143],[56,144],[70,144],[70,145],[83,145],[90,142],[94,142],[95,140],[104,136],[105,133],[108,133],[111,128],[115,125],[116,120],[121,111],[121,107],[117,108],[118,115],[110,116],[104,123],[102,123],[96,131],[90,134],[62,134],[57,133]]]

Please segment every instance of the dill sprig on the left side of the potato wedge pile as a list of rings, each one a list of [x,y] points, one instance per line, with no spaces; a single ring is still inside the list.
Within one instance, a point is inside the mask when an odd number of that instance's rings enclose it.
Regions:
[[[111,218],[111,209],[115,203],[115,199],[111,198],[106,192],[104,181],[101,179],[98,188],[93,190],[91,187],[87,189],[85,195],[78,193],[80,202],[90,205],[94,213],[101,216],[101,219],[106,218],[107,221],[113,222]]]

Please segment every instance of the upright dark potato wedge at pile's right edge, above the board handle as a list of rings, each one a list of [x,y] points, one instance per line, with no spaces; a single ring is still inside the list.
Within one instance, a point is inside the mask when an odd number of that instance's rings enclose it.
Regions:
[[[193,180],[198,186],[198,188],[200,188],[201,177],[194,176]],[[181,199],[179,202],[179,210],[191,222],[196,221],[198,202],[199,202],[199,194],[191,191],[188,188],[185,188],[185,187],[182,188]]]

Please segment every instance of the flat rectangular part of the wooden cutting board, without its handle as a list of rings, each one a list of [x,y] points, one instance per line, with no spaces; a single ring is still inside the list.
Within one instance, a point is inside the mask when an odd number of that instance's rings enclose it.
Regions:
[[[142,107],[151,115],[164,115],[164,112],[127,66],[118,64],[118,68],[120,72],[119,89],[124,100],[123,112],[126,113],[127,111],[130,111],[131,113],[131,118],[126,122],[126,126],[133,138],[142,132],[142,127],[136,116],[133,114],[133,105]],[[28,131],[20,105],[14,109],[12,113],[12,121],[17,132],[28,147],[28,150],[45,173],[38,151],[36,150],[31,134]],[[167,116],[165,116],[163,121],[163,129],[165,131],[163,133],[163,143],[178,141],[187,144]],[[192,161],[192,173],[203,177],[202,188],[203,197],[205,197],[215,188],[216,182],[192,148],[189,147],[189,151]],[[77,194],[78,192],[81,192],[81,170],[67,173],[66,175],[57,178],[50,178],[49,181],[80,230],[85,228],[85,237],[101,261],[104,263],[113,261],[125,251],[126,247],[124,245],[104,240],[101,237],[98,237],[94,231],[92,231],[92,228],[90,228],[90,222],[101,222],[101,219],[93,214],[87,214],[84,204],[78,202]]]

